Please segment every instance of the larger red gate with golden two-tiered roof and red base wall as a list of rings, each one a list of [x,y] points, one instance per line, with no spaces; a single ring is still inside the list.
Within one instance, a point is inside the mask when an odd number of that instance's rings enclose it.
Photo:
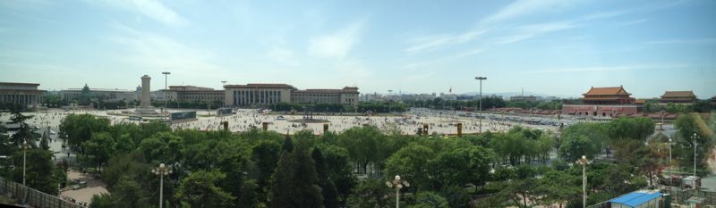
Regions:
[[[618,117],[639,111],[635,98],[624,87],[592,87],[582,94],[582,104],[562,105],[562,114],[576,116]]]

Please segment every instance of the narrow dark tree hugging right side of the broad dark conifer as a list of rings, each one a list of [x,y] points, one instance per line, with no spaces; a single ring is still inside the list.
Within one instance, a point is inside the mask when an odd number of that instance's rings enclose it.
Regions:
[[[323,196],[323,205],[326,208],[337,208],[338,192],[336,185],[334,185],[333,180],[328,177],[328,168],[326,167],[323,154],[320,153],[319,148],[313,149],[311,158],[316,163],[316,173],[319,178],[321,195]]]

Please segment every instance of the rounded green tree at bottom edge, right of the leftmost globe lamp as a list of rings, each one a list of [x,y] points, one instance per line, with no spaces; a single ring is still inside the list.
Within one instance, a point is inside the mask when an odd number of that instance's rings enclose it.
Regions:
[[[218,181],[225,178],[226,174],[220,171],[192,172],[182,180],[175,197],[189,207],[231,206],[235,197],[217,186]]]

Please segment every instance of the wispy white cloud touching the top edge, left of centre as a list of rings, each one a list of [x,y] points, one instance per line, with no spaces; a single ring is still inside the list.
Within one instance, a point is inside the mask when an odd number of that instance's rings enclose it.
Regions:
[[[168,25],[182,26],[186,24],[186,20],[174,10],[166,7],[159,1],[154,0],[106,0],[108,5],[116,8],[128,10],[131,12],[139,12],[155,21],[159,21]]]

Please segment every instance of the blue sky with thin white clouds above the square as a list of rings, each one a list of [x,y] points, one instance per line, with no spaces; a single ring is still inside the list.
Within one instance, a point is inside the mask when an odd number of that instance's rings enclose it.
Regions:
[[[716,1],[3,0],[0,81],[716,96]]]

